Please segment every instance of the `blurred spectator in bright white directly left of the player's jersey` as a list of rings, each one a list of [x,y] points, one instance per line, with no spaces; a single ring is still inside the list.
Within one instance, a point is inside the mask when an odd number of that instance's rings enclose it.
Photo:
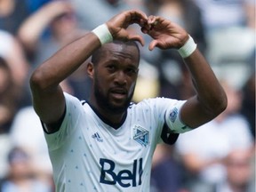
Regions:
[[[27,148],[30,163],[35,171],[46,180],[52,179],[52,164],[48,155],[48,148],[44,140],[42,125],[32,106],[20,108],[13,118],[9,134],[12,145]]]

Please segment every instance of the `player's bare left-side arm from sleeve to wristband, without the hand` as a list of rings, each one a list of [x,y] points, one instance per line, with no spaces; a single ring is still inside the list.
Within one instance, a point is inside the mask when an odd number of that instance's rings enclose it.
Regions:
[[[97,36],[88,33],[66,45],[41,64],[30,77],[33,106],[45,124],[58,122],[65,111],[60,82],[79,68],[100,46]],[[51,128],[50,132],[53,132]]]

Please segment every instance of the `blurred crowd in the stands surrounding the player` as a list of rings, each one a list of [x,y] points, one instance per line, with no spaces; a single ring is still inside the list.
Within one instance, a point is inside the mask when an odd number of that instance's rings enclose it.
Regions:
[[[228,94],[224,113],[172,147],[156,148],[151,192],[255,191],[254,0],[0,0],[0,191],[53,192],[44,132],[28,79],[54,52],[116,13],[140,9],[180,24],[194,37]],[[140,32],[137,26],[131,33]],[[144,36],[144,35],[143,35]],[[195,92],[175,50],[141,47],[133,100]],[[84,66],[62,82],[88,99]]]

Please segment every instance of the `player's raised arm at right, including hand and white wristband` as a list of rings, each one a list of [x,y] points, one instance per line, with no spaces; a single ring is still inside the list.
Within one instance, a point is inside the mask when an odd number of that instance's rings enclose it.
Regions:
[[[211,121],[227,107],[227,97],[212,68],[196,49],[192,37],[183,28],[162,17],[150,16],[148,24],[148,28],[142,28],[142,31],[154,39],[149,44],[149,50],[155,47],[180,50],[182,47],[184,51],[184,46],[190,44],[188,50],[192,51],[183,52],[182,56],[190,71],[196,96],[188,99],[181,109],[183,123],[196,128]]]

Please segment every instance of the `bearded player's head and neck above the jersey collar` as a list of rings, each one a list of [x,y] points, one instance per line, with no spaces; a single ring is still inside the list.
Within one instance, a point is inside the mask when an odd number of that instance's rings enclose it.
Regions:
[[[102,52],[104,60],[87,65],[94,90],[90,104],[98,109],[101,116],[118,124],[132,100],[139,71],[139,52],[134,45],[125,44],[106,44]],[[100,97],[95,91],[100,92]]]

